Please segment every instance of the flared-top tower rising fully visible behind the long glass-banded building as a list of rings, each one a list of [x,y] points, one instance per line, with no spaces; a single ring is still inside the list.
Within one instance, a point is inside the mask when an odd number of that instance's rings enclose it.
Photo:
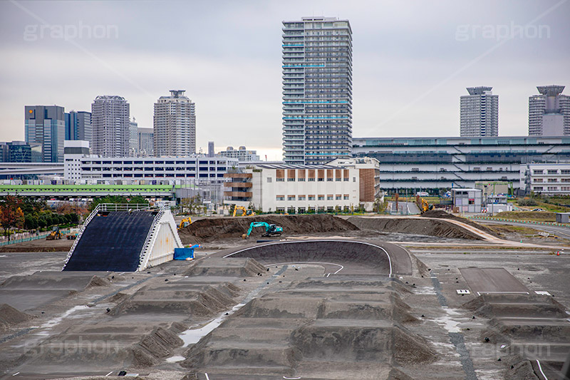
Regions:
[[[460,97],[460,135],[462,137],[499,135],[499,96],[492,87],[467,87],[469,95]]]

